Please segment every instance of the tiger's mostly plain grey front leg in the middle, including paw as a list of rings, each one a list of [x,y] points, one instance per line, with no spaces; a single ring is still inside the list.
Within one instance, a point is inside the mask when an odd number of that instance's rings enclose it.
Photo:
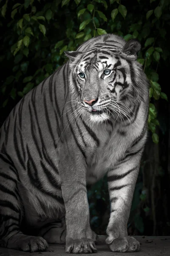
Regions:
[[[66,253],[95,253],[96,234],[89,223],[85,159],[81,152],[60,160],[62,195],[66,210]]]

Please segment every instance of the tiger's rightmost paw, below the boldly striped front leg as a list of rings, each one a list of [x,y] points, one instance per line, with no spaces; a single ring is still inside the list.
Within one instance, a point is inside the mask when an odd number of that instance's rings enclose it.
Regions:
[[[106,243],[107,239],[106,239]],[[108,244],[113,252],[133,253],[140,250],[140,243],[134,237],[126,236],[124,238],[116,238]]]

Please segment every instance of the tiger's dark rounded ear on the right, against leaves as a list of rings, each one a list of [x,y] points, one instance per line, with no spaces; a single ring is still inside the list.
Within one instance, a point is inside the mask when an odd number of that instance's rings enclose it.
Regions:
[[[128,56],[137,56],[136,53],[141,49],[141,44],[136,39],[129,40],[124,47],[122,48],[122,52]]]

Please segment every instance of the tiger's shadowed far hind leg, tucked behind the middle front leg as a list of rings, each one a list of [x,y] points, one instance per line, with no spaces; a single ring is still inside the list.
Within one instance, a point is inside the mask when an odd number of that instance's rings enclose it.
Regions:
[[[46,224],[38,234],[50,244],[65,244],[66,224],[65,220]]]

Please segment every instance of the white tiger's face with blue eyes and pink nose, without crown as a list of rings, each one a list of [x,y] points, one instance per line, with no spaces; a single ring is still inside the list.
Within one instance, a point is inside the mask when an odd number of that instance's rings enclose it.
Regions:
[[[129,115],[132,100],[139,93],[134,84],[134,76],[140,77],[139,65],[134,67],[136,54],[125,58],[119,52],[95,47],[85,53],[66,52],[69,58],[70,53],[74,55],[72,77],[87,118],[104,122]]]

